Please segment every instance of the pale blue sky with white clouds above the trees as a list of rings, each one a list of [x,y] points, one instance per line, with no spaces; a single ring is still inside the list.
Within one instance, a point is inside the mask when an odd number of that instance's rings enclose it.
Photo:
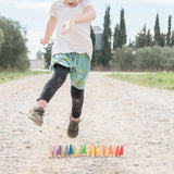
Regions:
[[[44,37],[49,18],[49,10],[53,0],[0,0],[0,15],[18,21],[27,29],[27,46],[29,59],[36,59],[36,52],[42,51],[39,44]],[[103,26],[105,7],[111,7],[111,27],[120,23],[120,12],[125,11],[127,41],[135,40],[135,36],[146,24],[153,34],[157,13],[160,17],[160,27],[167,32],[169,15],[172,15],[172,28],[174,29],[174,0],[91,0],[97,12],[94,26]]]

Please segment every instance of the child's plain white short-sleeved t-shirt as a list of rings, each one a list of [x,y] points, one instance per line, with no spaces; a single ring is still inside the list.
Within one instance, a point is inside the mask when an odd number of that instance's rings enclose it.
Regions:
[[[75,24],[67,34],[62,35],[63,25],[72,17],[83,13],[90,0],[80,0],[75,8],[69,8],[63,0],[57,0],[52,3],[50,15],[58,18],[57,36],[52,48],[52,54],[55,53],[87,53],[91,59],[92,42],[90,38],[90,23]]]

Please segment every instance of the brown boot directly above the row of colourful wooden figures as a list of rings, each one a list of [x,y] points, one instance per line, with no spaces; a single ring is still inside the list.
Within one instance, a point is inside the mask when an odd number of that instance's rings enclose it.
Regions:
[[[78,135],[78,129],[79,129],[79,120],[77,122],[72,120],[72,116],[70,116],[70,123],[67,127],[67,136],[70,138],[75,138]]]

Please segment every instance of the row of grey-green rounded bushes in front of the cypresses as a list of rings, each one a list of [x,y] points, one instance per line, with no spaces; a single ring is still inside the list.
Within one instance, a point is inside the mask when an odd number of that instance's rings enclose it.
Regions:
[[[144,47],[133,49],[124,46],[113,53],[111,67],[120,71],[174,71],[174,47]]]

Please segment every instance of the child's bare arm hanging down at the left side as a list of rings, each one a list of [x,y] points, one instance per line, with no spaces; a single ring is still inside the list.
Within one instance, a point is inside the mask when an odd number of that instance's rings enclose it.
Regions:
[[[42,45],[46,45],[46,44],[49,44],[51,37],[52,37],[52,34],[54,32],[54,28],[57,26],[57,17],[54,16],[50,16],[48,23],[47,23],[47,28],[46,28],[46,34],[45,34],[45,37],[40,40],[40,44]]]

